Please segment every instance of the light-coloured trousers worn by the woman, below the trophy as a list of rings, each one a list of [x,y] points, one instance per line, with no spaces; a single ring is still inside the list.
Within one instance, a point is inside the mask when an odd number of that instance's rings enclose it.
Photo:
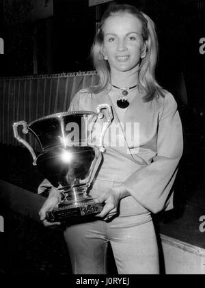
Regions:
[[[107,274],[109,241],[119,274],[159,274],[154,225],[151,218],[143,219],[126,215],[68,226],[64,237],[73,274]]]

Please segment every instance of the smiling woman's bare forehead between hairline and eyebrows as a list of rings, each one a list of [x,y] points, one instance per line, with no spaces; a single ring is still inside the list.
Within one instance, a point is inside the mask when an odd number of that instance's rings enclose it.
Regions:
[[[116,14],[109,16],[103,25],[104,35],[136,32],[141,34],[141,23],[132,14]]]

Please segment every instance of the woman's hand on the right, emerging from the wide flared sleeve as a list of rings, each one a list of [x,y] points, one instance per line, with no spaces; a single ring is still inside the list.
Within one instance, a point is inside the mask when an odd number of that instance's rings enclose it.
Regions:
[[[112,218],[118,213],[118,205],[121,198],[128,196],[128,192],[124,185],[113,187],[112,189],[106,189],[105,192],[95,199],[97,203],[105,202],[105,206],[102,211],[96,214],[96,217],[101,217],[104,220]]]

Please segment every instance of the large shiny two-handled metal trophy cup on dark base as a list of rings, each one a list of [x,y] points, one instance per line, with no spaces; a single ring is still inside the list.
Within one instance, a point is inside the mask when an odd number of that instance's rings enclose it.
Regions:
[[[102,114],[106,109],[107,117]],[[90,111],[62,112],[44,116],[27,124],[13,124],[14,137],[30,151],[33,165],[61,192],[61,201],[46,213],[50,222],[64,221],[102,211],[103,205],[89,195],[89,187],[102,159],[103,138],[113,118],[111,106],[100,104],[96,113]],[[94,137],[98,133],[98,142]],[[18,135],[18,126],[23,133],[32,133],[40,144],[36,157],[31,145]],[[97,131],[99,132],[99,131]]]

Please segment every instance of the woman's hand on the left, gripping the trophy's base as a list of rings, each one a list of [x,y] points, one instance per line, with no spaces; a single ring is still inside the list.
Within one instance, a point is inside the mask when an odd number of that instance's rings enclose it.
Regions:
[[[42,205],[42,208],[39,211],[40,220],[44,224],[44,226],[53,226],[53,225],[59,225],[61,222],[49,222],[46,220],[46,212],[52,211],[57,204],[59,203],[61,199],[61,194],[58,189],[55,187],[51,187],[51,191],[49,193],[49,197],[44,202],[44,205]]]

